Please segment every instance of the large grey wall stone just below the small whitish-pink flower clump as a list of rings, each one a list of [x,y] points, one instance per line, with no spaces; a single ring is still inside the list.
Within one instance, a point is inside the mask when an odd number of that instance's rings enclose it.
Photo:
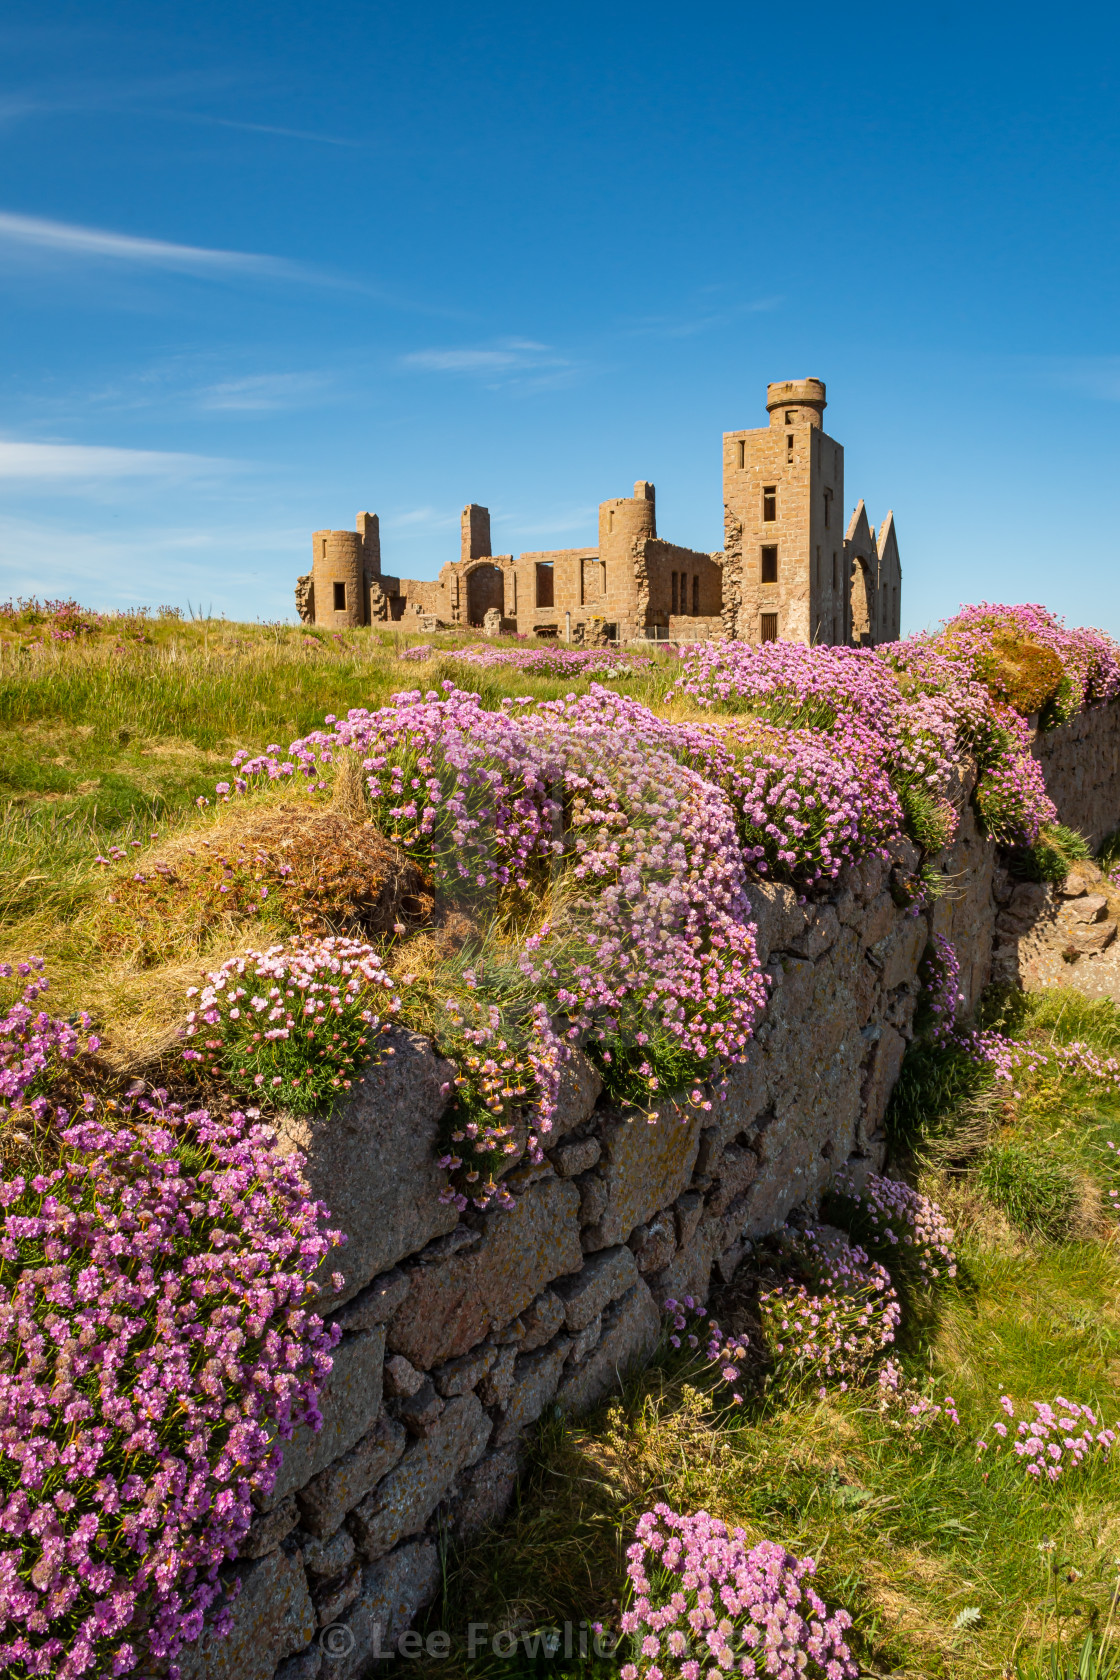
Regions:
[[[435,1164],[455,1068],[418,1033],[395,1028],[381,1043],[385,1058],[331,1114],[285,1114],[277,1122],[279,1147],[304,1152],[311,1194],[348,1233],[317,1273],[327,1310],[458,1220],[440,1201],[447,1174]],[[332,1272],[346,1280],[341,1297],[332,1294]]]

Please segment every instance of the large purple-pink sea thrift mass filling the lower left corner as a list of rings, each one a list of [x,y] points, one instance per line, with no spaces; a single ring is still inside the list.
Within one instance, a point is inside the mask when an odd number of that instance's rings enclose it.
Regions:
[[[0,1183],[0,1665],[175,1677],[279,1440],[319,1423],[339,1233],[255,1110],[42,1100],[54,1164]]]

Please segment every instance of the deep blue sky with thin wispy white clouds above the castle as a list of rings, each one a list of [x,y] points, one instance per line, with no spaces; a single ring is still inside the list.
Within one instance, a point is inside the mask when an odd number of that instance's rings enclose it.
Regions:
[[[1113,8],[0,7],[0,593],[294,617],[317,526],[433,576],[722,544],[720,432],[828,381],[903,628],[1120,633]]]

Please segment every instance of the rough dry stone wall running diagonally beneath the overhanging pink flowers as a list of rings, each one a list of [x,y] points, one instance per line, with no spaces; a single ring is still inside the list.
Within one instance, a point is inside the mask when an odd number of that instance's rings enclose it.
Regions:
[[[1118,716],[1090,714],[1080,738],[1039,751],[1076,810],[1102,822],[1120,803],[1108,759]],[[1080,780],[1075,738],[1100,766]],[[960,833],[937,858],[950,890],[922,911],[903,902],[919,864],[905,842],[845,870],[824,902],[757,884],[771,1001],[747,1062],[704,1094],[710,1107],[665,1102],[650,1124],[604,1104],[576,1053],[547,1159],[507,1179],[510,1210],[460,1216],[440,1200],[453,1070],[415,1033],[391,1035],[393,1053],[343,1109],[282,1122],[282,1146],[306,1154],[314,1194],[349,1238],[324,1267],[343,1272],[343,1289],[324,1275],[321,1295],[341,1341],[322,1428],[287,1443],[230,1566],[233,1633],[203,1636],[185,1680],[378,1672],[437,1593],[438,1530],[465,1537],[500,1515],[544,1410],[593,1406],[650,1356],[668,1295],[705,1297],[714,1275],[730,1278],[744,1245],[811,1203],[838,1166],[882,1166],[927,939],[952,939],[971,1005],[997,916],[1006,927],[1006,877],[969,791],[962,781]]]

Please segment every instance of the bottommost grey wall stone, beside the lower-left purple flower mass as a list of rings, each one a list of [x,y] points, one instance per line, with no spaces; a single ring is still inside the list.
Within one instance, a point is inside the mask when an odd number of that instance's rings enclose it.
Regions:
[[[242,1589],[230,1606],[232,1628],[203,1630],[180,1656],[181,1680],[272,1680],[282,1658],[316,1631],[307,1578],[294,1546],[232,1566]]]

